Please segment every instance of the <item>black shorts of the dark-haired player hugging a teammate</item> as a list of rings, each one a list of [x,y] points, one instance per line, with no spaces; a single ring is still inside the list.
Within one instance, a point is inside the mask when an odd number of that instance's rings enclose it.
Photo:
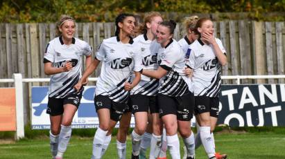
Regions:
[[[160,118],[164,115],[174,114],[181,121],[189,121],[193,117],[194,95],[187,93],[180,97],[170,97],[158,94],[157,103],[159,106]]]

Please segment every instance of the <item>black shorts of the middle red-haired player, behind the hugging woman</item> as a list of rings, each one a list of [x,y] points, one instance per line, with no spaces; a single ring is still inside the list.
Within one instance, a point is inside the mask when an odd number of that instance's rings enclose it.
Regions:
[[[150,110],[150,113],[159,113],[156,96],[131,95],[130,106],[133,114],[142,111],[148,112],[148,110]]]

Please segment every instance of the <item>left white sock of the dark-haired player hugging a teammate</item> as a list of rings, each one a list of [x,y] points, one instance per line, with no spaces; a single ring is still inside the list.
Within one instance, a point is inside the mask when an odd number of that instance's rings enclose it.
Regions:
[[[175,135],[166,135],[166,140],[171,158],[180,159],[180,145],[177,133]]]

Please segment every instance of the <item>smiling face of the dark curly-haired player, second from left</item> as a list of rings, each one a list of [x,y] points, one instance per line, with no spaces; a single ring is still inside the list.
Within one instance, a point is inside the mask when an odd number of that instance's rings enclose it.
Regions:
[[[118,26],[121,30],[120,32],[125,32],[127,35],[131,35],[135,29],[135,17],[126,17],[123,19],[123,22],[119,22]]]

